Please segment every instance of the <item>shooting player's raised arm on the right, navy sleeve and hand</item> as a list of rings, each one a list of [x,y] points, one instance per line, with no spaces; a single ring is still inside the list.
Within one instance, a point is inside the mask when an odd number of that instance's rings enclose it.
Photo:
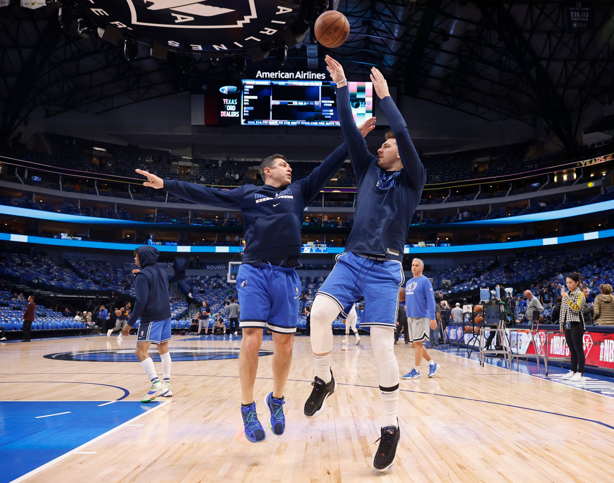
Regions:
[[[422,189],[424,188],[424,183],[426,183],[426,170],[420,161],[416,148],[414,148],[414,143],[411,142],[407,124],[394,101],[392,101],[388,91],[388,83],[382,73],[375,67],[371,68],[371,82],[373,82],[375,93],[381,99],[381,107],[390,123],[394,138],[397,140],[398,155],[401,158],[403,167],[407,170],[416,189]]]

